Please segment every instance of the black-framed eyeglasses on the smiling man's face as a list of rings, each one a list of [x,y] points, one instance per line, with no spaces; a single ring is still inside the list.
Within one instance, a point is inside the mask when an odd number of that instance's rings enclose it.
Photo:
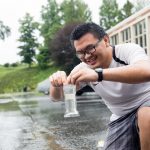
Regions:
[[[85,48],[85,50],[81,50],[81,51],[76,52],[76,56],[79,59],[83,59],[86,54],[93,54],[96,51],[96,47],[98,46],[99,42],[101,42],[101,40],[98,40],[95,44],[88,45]]]

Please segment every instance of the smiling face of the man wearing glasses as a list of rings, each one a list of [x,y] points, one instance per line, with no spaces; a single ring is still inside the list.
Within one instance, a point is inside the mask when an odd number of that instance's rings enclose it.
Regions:
[[[106,39],[105,39],[106,38]],[[97,39],[91,33],[87,33],[79,40],[74,41],[76,54],[82,62],[91,68],[107,68],[109,52],[107,50],[108,38]]]

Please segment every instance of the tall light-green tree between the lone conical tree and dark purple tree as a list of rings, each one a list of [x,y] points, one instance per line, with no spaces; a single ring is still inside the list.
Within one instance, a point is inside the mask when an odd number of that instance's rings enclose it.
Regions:
[[[48,67],[50,61],[49,43],[53,39],[55,33],[61,28],[61,18],[59,16],[59,6],[56,0],[48,0],[46,6],[42,6],[41,11],[42,24],[40,33],[44,38],[43,45],[39,47],[37,61],[41,69]]]

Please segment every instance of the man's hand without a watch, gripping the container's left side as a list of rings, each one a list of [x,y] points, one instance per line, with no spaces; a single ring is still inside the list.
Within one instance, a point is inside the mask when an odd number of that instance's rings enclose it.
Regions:
[[[60,87],[67,82],[67,75],[64,71],[57,71],[53,73],[49,79],[53,87]]]

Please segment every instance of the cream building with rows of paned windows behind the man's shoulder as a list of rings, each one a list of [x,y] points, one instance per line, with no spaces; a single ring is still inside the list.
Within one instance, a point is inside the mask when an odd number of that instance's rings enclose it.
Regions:
[[[145,7],[107,31],[112,45],[136,43],[150,57],[150,6]]]

